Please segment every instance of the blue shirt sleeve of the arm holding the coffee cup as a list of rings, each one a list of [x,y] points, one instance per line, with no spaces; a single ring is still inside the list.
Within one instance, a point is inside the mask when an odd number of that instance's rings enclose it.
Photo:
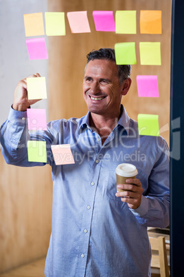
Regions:
[[[140,224],[147,227],[167,227],[170,223],[170,163],[167,143],[161,139],[159,159],[148,178],[148,191],[137,209],[130,209]]]

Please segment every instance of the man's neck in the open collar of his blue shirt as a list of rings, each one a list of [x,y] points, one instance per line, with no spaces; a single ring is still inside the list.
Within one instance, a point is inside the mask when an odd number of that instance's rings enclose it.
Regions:
[[[90,114],[90,126],[100,135],[102,139],[102,144],[106,140],[109,134],[113,131],[114,127],[117,125],[122,111],[119,110],[119,114],[114,114],[113,116],[104,116],[100,114]]]

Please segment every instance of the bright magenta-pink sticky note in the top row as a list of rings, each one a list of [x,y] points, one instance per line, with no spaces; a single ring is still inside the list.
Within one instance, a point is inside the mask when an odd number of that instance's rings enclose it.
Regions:
[[[113,11],[94,10],[93,19],[97,31],[115,32]]]

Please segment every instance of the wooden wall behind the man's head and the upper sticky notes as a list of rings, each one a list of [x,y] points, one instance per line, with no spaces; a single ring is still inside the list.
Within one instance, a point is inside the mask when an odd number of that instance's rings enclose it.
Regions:
[[[63,37],[49,37],[49,119],[80,117],[87,112],[82,96],[82,81],[86,55],[101,47],[114,48],[115,43],[135,41],[137,65],[133,65],[133,84],[124,96],[128,114],[137,120],[137,114],[159,114],[161,135],[169,143],[170,125],[170,35],[171,0],[53,0],[48,1],[50,12],[65,12],[66,32]],[[87,10],[91,33],[71,34],[67,12]],[[96,32],[93,10],[137,10],[137,34],[115,34]],[[163,34],[140,34],[140,10],[161,10]],[[140,65],[139,42],[160,41],[162,65]],[[139,74],[158,75],[159,98],[139,98],[136,76]]]

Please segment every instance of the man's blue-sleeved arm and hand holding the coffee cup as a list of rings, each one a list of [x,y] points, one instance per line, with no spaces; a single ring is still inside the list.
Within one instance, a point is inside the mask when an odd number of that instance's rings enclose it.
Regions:
[[[160,141],[163,142],[161,139]],[[148,191],[143,189],[139,179],[129,179],[128,183],[119,185],[128,192],[117,192],[116,196],[126,202],[137,221],[147,227],[167,227],[170,220],[170,172],[169,150],[164,141],[157,163],[154,164],[148,179]]]

